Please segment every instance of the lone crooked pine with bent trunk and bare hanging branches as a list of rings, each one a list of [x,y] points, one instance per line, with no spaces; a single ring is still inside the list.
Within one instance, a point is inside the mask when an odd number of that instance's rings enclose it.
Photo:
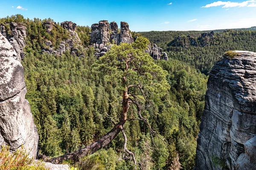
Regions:
[[[94,65],[95,71],[104,75],[105,83],[118,87],[119,91],[122,92],[122,113],[119,114],[118,122],[116,123],[108,113],[105,113],[113,123],[112,130],[87,147],[63,156],[45,159],[46,161],[55,164],[67,159],[78,161],[79,158],[95,153],[107,146],[122,132],[124,137],[123,159],[132,159],[136,169],[137,161],[134,153],[126,147],[125,122],[143,121],[148,126],[154,144],[153,137],[158,136],[158,134],[151,127],[147,117],[149,114],[155,116],[154,102],[165,95],[169,88],[166,81],[167,72],[156,65],[153,58],[145,53],[148,43],[147,39],[138,37],[132,44],[113,45],[111,51],[100,57]],[[137,112],[136,115],[138,116],[131,118],[132,112]]]

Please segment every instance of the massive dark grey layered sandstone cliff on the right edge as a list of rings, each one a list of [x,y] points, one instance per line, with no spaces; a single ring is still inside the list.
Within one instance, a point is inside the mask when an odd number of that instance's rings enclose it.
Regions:
[[[256,157],[256,53],[225,54],[212,68],[207,87],[198,134],[197,169],[252,167]]]

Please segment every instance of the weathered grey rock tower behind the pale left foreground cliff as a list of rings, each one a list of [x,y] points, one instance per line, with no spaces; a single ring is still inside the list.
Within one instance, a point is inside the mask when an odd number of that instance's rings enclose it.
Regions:
[[[17,53],[17,59],[21,61],[21,58],[25,55],[23,48],[26,46],[26,26],[23,23],[10,23],[5,25],[1,24],[0,28],[1,34],[9,40]]]

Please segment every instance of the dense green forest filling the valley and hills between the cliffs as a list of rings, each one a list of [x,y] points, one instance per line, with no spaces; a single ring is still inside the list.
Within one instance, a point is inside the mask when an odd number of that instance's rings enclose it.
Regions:
[[[9,34],[8,23],[26,25],[22,60],[26,99],[38,128],[39,154],[50,157],[79,150],[108,133],[113,122],[119,122],[123,85],[130,81],[141,83],[144,86],[137,88],[148,92],[144,96],[138,89],[132,90],[137,94],[132,99],[143,105],[141,114],[150,126],[141,121],[139,112],[132,107],[127,113],[129,121],[124,125],[127,148],[134,153],[140,169],[192,170],[209,71],[225,51],[256,52],[256,31],[215,31],[212,37],[201,37],[204,33],[201,31],[151,31],[132,35],[146,37],[168,51],[169,61],[153,60],[145,54],[143,49],[149,41],[143,37],[131,45],[114,45],[101,59],[94,56],[94,48],[89,46],[91,28],[77,26],[81,41],[76,48],[80,55],[71,55],[69,50],[62,55],[42,54],[42,49],[48,48],[46,40],[58,48],[70,36],[60,23],[48,34],[45,21],[52,20],[30,20],[17,14],[1,18],[0,24]],[[119,61],[116,59],[119,54],[134,54],[143,61],[145,79],[141,79],[141,73],[133,72],[138,68],[122,73],[116,69],[119,65],[107,67],[109,59]],[[152,74],[151,69],[158,74]],[[125,81],[121,81],[123,74],[127,76]],[[78,162],[65,163],[79,170],[133,170],[131,156],[123,160],[124,142],[123,134],[119,133],[105,148]]]

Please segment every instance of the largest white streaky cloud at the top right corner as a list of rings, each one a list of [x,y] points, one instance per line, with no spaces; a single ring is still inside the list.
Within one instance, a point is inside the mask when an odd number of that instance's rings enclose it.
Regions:
[[[232,8],[232,7],[255,7],[256,4],[254,3],[256,0],[247,0],[241,3],[234,3],[234,2],[223,2],[223,1],[217,1],[214,3],[207,4],[206,6],[202,6],[201,8],[210,8],[214,6],[222,6],[222,8]]]

